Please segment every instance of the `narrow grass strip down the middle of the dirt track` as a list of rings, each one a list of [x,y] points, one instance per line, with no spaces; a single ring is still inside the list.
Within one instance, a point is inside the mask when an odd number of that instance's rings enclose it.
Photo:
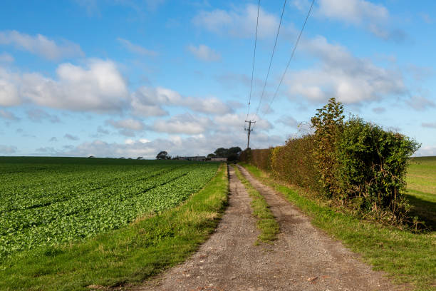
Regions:
[[[253,210],[253,215],[257,218],[257,228],[261,231],[256,244],[276,240],[277,234],[279,233],[279,223],[277,223],[276,218],[274,218],[274,215],[271,213],[264,196],[249,183],[249,180],[244,178],[241,171],[236,166],[234,167],[234,171],[252,199],[251,209]]]

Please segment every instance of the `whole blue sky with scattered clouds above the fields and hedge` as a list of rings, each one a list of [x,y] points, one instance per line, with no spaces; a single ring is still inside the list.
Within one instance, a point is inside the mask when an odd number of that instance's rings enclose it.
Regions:
[[[436,155],[436,2],[261,0],[251,148],[328,98]],[[2,1],[0,155],[153,158],[246,146],[257,1]],[[259,108],[258,114],[256,108]]]

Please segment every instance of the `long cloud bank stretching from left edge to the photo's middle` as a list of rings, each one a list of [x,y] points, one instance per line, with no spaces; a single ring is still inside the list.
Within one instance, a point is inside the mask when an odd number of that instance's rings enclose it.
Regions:
[[[131,110],[134,116],[165,116],[165,106],[186,107],[208,114],[225,114],[232,108],[214,96],[185,97],[163,87],[137,88],[127,82],[113,61],[87,60],[84,66],[62,63],[57,78],[41,73],[14,73],[0,66],[0,106],[34,103],[72,111],[107,113]]]

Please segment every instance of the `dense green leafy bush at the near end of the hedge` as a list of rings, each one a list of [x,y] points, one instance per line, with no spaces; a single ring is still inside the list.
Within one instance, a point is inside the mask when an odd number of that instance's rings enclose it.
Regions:
[[[404,178],[418,143],[361,118],[351,118],[343,126],[337,145],[340,167],[336,179],[341,199],[358,201],[363,212],[375,217],[403,220],[409,209],[403,197]]]

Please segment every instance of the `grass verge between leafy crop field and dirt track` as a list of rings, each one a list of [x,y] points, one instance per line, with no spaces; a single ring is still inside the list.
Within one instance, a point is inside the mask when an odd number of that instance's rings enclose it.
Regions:
[[[0,290],[90,290],[142,282],[207,240],[227,205],[228,189],[227,166],[221,165],[177,208],[84,242],[16,254],[0,265]]]

